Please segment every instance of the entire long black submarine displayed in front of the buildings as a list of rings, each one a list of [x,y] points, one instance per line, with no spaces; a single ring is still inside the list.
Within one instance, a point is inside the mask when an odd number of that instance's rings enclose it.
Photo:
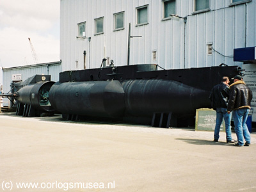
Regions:
[[[195,125],[198,108],[211,108],[211,88],[238,66],[165,70],[155,64],[100,67],[35,75],[12,83],[16,115],[61,113],[65,120],[122,120],[153,127]],[[55,112],[54,112],[55,111]]]

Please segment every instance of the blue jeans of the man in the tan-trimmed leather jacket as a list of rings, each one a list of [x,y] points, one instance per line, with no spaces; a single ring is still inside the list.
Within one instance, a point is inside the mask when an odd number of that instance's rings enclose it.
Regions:
[[[242,108],[242,109],[234,110],[233,112],[238,145],[244,145],[244,140],[247,143],[251,143],[250,132],[248,131],[248,127],[246,125],[246,120],[247,120],[249,111],[250,109],[248,108]]]

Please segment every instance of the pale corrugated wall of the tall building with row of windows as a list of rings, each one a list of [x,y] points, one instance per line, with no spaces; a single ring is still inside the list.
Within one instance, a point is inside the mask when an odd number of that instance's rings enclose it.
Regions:
[[[193,12],[194,0],[177,0],[176,14],[163,20],[161,0],[61,0],[60,58],[62,70],[100,67],[106,57],[115,65],[127,65],[128,26],[131,23],[131,64],[157,63],[161,67],[210,67],[234,62],[233,49],[256,45],[256,3],[209,0],[207,12]],[[245,2],[245,3],[244,3]],[[148,4],[148,24],[136,26],[136,8]],[[114,31],[114,13],[124,12],[124,29]],[[95,19],[104,17],[104,33],[95,35]],[[86,37],[77,36],[77,24],[86,22]],[[207,44],[214,50],[208,55]],[[156,51],[156,60],[152,59]]]

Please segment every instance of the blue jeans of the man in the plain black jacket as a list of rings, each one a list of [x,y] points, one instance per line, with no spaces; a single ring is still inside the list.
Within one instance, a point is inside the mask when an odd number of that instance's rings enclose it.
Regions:
[[[226,139],[227,141],[232,140],[231,136],[231,114],[227,113],[226,108],[217,108],[216,109],[216,125],[214,129],[214,140],[219,140],[220,138],[220,125],[222,123],[222,120],[224,118],[225,121],[225,127],[226,127]]]

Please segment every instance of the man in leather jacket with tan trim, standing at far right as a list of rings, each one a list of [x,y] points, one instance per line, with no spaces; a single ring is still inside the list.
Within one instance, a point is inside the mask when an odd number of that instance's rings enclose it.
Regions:
[[[234,146],[249,146],[251,143],[250,132],[246,125],[252,100],[252,90],[243,81],[243,77],[235,76],[234,83],[230,85],[228,100],[228,113],[233,111],[237,143]],[[246,141],[244,143],[244,140]]]

